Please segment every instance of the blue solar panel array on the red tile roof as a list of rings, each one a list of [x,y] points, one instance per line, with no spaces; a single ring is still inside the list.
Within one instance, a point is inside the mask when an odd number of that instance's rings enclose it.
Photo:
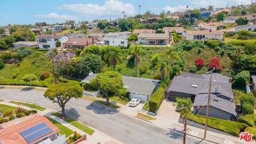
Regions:
[[[28,143],[30,143],[38,138],[43,137],[44,135],[50,132],[52,132],[52,129],[45,123],[41,123],[20,132],[20,134]]]

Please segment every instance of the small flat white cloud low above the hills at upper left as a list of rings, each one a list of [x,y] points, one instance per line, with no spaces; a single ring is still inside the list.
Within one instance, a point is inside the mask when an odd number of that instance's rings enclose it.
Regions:
[[[33,17],[37,18],[37,19],[49,19],[49,20],[56,20],[59,22],[63,22],[66,20],[76,20],[77,17],[73,17],[70,15],[59,15],[57,13],[49,13],[49,14],[37,14],[37,15],[33,15]]]

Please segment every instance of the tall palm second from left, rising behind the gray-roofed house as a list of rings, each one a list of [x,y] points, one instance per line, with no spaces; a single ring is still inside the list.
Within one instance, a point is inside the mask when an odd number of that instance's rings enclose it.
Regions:
[[[135,46],[135,47],[131,47],[131,55],[127,57],[127,60],[134,58],[135,77],[137,77],[137,67],[139,63],[142,62],[142,59],[140,58],[141,54],[142,54],[141,47]]]

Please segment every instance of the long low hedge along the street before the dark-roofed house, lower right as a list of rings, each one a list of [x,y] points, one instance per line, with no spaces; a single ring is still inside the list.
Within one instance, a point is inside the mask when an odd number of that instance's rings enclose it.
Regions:
[[[205,125],[205,116],[189,115],[188,119],[189,121],[193,121],[198,124]],[[212,127],[213,129],[226,132],[231,135],[235,135],[236,137],[239,137],[239,132],[243,132],[246,127],[249,127],[247,124],[244,124],[244,123],[227,121],[224,119],[213,118],[213,117],[209,117],[208,126]]]

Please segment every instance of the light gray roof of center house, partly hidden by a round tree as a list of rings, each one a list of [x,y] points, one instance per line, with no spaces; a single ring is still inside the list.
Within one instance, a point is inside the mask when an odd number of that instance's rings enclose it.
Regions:
[[[90,83],[98,74],[92,74],[83,79],[82,83]],[[124,81],[124,87],[127,92],[134,92],[140,94],[153,94],[156,85],[160,82],[156,79],[139,78],[139,77],[127,77],[122,76]]]

